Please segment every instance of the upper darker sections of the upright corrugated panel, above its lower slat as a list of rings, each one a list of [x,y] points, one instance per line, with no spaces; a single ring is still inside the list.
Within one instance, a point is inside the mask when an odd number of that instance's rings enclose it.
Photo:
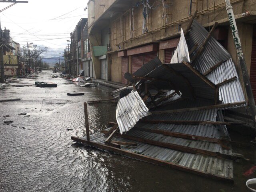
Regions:
[[[194,19],[192,28],[189,32],[188,50],[191,50],[196,43],[198,43],[198,47],[191,54],[192,56],[196,55],[196,52],[198,52],[200,46],[208,36],[208,33],[209,32]],[[228,51],[215,38],[210,37],[204,47],[204,50],[200,56],[192,62],[192,64],[197,70],[204,73],[216,63],[221,61],[224,62],[230,57],[231,56]]]

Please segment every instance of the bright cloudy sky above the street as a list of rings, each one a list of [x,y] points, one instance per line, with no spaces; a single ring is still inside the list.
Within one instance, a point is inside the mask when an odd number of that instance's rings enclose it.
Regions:
[[[0,12],[2,30],[10,30],[10,36],[20,46],[32,43],[48,47],[44,57],[63,55],[80,18],[87,18],[88,0],[28,0],[17,3]],[[12,3],[0,3],[0,10]],[[59,39],[56,39],[59,38]]]

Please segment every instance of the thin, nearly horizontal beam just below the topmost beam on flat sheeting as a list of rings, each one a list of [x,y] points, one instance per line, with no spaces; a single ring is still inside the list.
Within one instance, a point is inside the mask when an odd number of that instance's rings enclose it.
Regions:
[[[184,120],[147,120],[140,119],[140,122],[150,124],[182,124],[182,125],[241,125],[246,123],[222,122],[222,121],[184,121]]]

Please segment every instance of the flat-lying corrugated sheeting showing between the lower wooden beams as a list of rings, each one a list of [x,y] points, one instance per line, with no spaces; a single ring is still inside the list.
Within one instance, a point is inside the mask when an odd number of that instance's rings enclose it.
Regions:
[[[194,112],[179,112],[173,114],[164,114],[154,116],[154,119],[158,120],[211,120],[216,121],[220,119],[216,109],[210,110],[199,110]],[[150,118],[153,116],[149,116]],[[185,134],[193,134],[198,136],[206,136],[210,138],[223,138],[227,137],[225,130],[219,130],[213,125],[174,125],[174,124],[146,124],[138,122],[136,126],[140,128],[157,129],[157,130],[168,130],[172,132],[179,132]],[[136,136],[141,138],[147,138],[150,140],[156,140],[159,142],[166,142],[172,144],[178,144],[182,146],[188,146],[192,148],[198,148],[202,150],[208,150],[212,152],[218,152],[223,154],[232,154],[232,150],[223,149],[219,144],[204,142],[204,141],[193,141],[184,138],[176,138],[172,136],[164,136],[162,134],[144,132],[136,130],[136,127],[128,131],[126,134],[130,136]],[[104,144],[106,138],[100,134],[94,134],[90,138],[93,142]],[[113,138],[112,140],[136,142],[134,140],[128,140],[124,138]],[[219,159],[210,156],[202,156],[200,154],[190,154],[178,150],[172,150],[169,148],[154,146],[151,144],[145,144],[142,142],[136,142],[137,146],[127,147],[121,146],[123,150],[142,154],[148,157],[156,158],[166,162],[172,162],[174,164],[192,168],[204,173],[213,174],[216,176],[223,176],[227,178],[233,178],[233,162],[231,160]]]

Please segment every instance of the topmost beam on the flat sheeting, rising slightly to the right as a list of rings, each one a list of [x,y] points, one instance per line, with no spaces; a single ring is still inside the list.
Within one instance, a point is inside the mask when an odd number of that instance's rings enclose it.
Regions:
[[[230,106],[237,106],[246,104],[245,102],[234,102],[227,104],[218,104],[218,105],[209,105],[202,107],[192,107],[192,108],[183,108],[183,109],[173,109],[173,110],[162,110],[162,111],[151,111],[152,114],[162,114],[162,113],[176,113],[176,112],[184,112],[184,111],[197,111],[197,110],[205,110],[205,109],[214,109],[214,108],[225,108]]]

